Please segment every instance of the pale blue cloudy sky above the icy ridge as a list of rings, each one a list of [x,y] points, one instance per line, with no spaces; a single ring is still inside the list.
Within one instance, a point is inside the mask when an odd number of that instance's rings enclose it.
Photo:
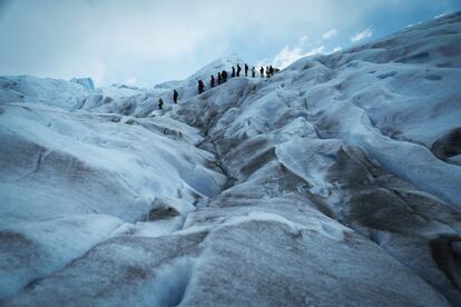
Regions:
[[[217,58],[284,68],[461,10],[461,0],[0,0],[0,76],[153,87]]]

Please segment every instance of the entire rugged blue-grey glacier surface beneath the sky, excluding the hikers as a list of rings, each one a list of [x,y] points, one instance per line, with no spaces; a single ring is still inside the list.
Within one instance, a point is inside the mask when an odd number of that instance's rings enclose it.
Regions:
[[[0,303],[461,305],[460,41],[454,13],[203,95],[244,61],[0,77]]]

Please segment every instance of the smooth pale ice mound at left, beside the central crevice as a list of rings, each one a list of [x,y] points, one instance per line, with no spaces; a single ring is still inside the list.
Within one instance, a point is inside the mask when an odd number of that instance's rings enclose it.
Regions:
[[[205,166],[213,155],[194,147],[197,131],[168,119],[27,102],[2,103],[0,113],[0,296],[143,220],[157,198],[196,204],[224,184]]]

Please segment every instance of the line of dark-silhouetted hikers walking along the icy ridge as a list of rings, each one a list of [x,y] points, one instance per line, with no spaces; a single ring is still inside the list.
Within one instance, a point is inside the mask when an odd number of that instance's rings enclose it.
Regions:
[[[244,66],[245,69],[245,77],[248,77],[248,70],[249,67],[245,63]],[[279,69],[278,68],[274,68],[272,66],[266,66],[266,69],[264,69],[264,67],[259,68],[259,75],[261,78],[271,78],[274,76],[275,72],[278,72]],[[241,77],[241,72],[242,72],[242,67],[239,65],[237,65],[237,69],[235,67],[232,67],[232,73],[230,73],[230,78],[235,78],[235,77]],[[252,78],[256,77],[256,68],[252,67]],[[217,79],[217,80],[216,80]],[[217,78],[215,78],[214,75],[210,76],[209,78],[209,87],[214,88],[216,86],[216,83],[219,86],[224,82],[227,81],[227,71],[223,70],[219,71],[217,73]],[[202,80],[198,80],[198,93],[203,93],[205,91],[205,83]],[[178,103],[178,91],[175,89],[173,90],[173,102],[174,103]],[[161,98],[158,99],[158,109],[163,109],[164,107],[164,100]]]

